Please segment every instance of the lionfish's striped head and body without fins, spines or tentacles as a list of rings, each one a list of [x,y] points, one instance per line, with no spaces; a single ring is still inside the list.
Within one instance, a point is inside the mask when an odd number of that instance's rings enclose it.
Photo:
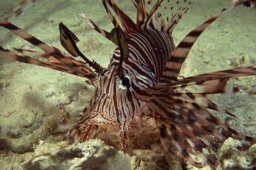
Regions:
[[[92,124],[117,127],[125,136],[132,122],[140,121],[143,108],[152,101],[154,85],[159,83],[174,50],[172,37],[166,32],[152,28],[127,34],[126,41],[129,57],[122,64],[124,77],[121,79],[116,74],[116,67],[120,63],[120,49],[117,48],[108,68],[103,69],[95,80],[95,104],[92,103],[84,112],[86,120],[93,122]],[[75,128],[76,137],[73,138],[80,138],[81,134],[80,131],[77,134],[77,129],[88,125],[83,116],[80,120],[81,124]],[[92,128],[91,124],[89,125]]]

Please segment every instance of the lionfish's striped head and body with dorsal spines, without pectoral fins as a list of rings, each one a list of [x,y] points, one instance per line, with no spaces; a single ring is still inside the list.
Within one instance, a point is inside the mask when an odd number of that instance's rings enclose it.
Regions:
[[[173,27],[179,22],[182,14],[188,11],[188,6],[193,4],[190,1],[182,1],[187,3],[187,6],[184,7],[183,4],[184,8],[179,8],[169,21],[168,17],[164,20],[160,13],[154,15],[162,2],[163,0],[156,1],[154,5],[152,4],[152,9],[147,12],[145,1],[134,1],[134,6],[137,8],[136,23],[134,23],[114,1],[102,1],[114,25],[111,32],[100,29],[83,13],[80,14],[80,17],[86,19],[95,31],[117,46],[107,68],[84,57],[76,46],[76,49],[74,48],[75,42],[71,43],[71,48],[68,48],[68,43],[77,38],[65,25],[60,25],[60,32],[63,34],[61,44],[73,56],[81,56],[97,73],[97,78],[93,82],[96,87],[95,95],[90,106],[81,116],[79,125],[84,126],[86,122],[100,127],[117,127],[121,133],[125,133],[131,127],[131,123],[141,116],[143,108],[152,97],[154,84],[161,78],[166,62],[174,49],[173,39],[170,36]],[[150,3],[152,2],[148,1],[148,4]],[[113,17],[109,6],[115,11],[121,25]],[[173,6],[171,10],[172,8]],[[63,37],[70,37],[68,43],[65,42],[67,38]],[[78,126],[77,129],[83,128]]]

